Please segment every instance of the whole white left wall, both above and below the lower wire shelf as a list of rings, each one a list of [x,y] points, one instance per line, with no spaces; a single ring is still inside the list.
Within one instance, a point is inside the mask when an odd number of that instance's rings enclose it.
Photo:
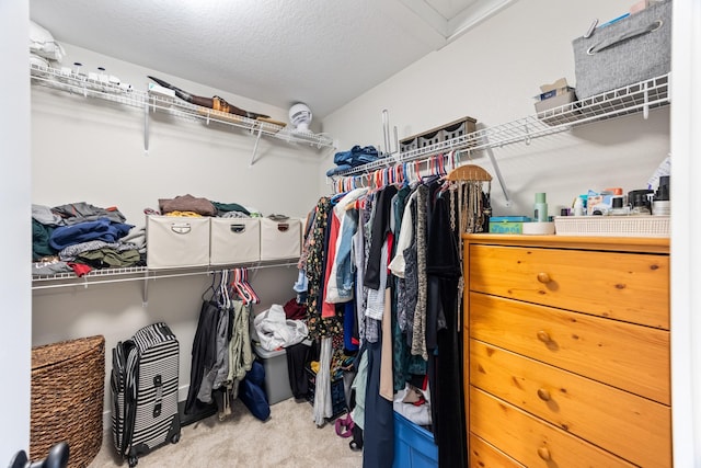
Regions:
[[[80,61],[84,71],[102,66],[137,89],[146,89],[146,76],[152,75],[191,93],[218,94],[245,110],[286,121],[287,110],[230,96],[70,44],[65,47],[64,65]],[[26,68],[21,68],[22,79],[26,81]],[[157,112],[150,114],[147,152],[142,110],[41,85],[33,85],[31,93],[31,197],[34,204],[57,206],[88,202],[100,207],[116,206],[127,222],[142,226],[145,208],[158,208],[159,198],[185,194],[239,203],[258,209],[264,216],[301,217],[317,203],[315,174],[322,153],[309,146],[264,137],[257,148],[256,162],[251,167],[254,136],[229,126],[206,126]],[[23,209],[28,213],[28,205]],[[28,248],[25,250],[28,252]],[[261,297],[254,312],[294,297],[296,278],[294,266],[252,270],[249,279]],[[207,275],[149,281],[147,297],[143,281],[87,288],[36,288],[32,344],[103,334],[107,384],[111,350],[116,342],[128,339],[145,324],[164,320],[181,343],[181,398],[184,398],[202,295],[210,282]],[[35,284],[44,285],[46,283]],[[142,307],[143,299],[148,299],[147,307]],[[108,403],[108,386],[105,390],[105,403]]]

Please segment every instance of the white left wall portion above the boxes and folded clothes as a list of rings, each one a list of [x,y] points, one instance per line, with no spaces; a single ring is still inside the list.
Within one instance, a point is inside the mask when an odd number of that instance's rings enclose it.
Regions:
[[[147,75],[156,76],[191,93],[218,94],[240,107],[287,121],[287,110],[65,46],[65,65],[81,61],[84,71],[104,66],[140,90],[146,89]],[[158,208],[159,198],[186,193],[252,206],[264,215],[301,216],[315,204],[314,171],[322,152],[262,138],[250,167],[254,135],[163,112],[149,115],[147,153],[142,110],[32,87],[32,202],[117,206],[131,224],[142,224],[143,208]]]

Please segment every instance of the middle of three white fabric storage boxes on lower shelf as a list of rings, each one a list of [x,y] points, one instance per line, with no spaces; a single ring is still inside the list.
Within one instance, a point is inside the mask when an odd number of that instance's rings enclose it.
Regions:
[[[258,218],[211,218],[209,264],[227,265],[261,260]]]

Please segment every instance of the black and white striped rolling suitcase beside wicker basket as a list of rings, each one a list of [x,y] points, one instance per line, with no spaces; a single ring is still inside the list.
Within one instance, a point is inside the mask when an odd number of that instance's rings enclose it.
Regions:
[[[180,441],[180,345],[163,322],[143,327],[112,350],[112,432],[117,453],[136,466],[145,455]]]

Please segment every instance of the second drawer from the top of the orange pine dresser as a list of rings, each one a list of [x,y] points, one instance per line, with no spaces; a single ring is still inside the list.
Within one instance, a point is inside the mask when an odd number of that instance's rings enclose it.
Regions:
[[[669,332],[470,293],[470,336],[669,404]]]

